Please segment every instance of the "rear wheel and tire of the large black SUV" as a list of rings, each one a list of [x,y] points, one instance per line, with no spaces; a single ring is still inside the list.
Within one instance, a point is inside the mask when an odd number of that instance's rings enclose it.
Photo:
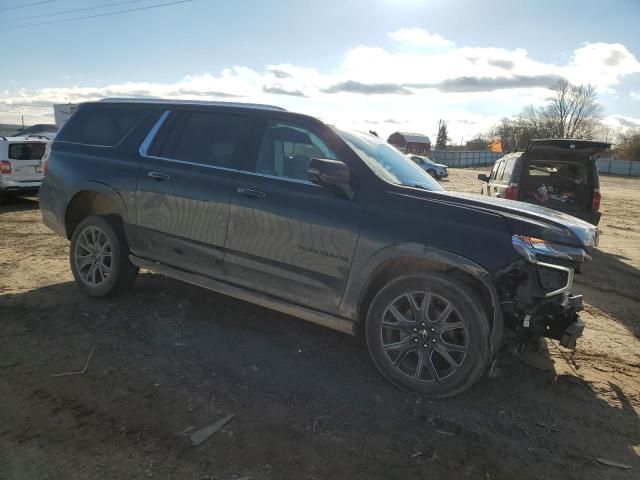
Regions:
[[[95,236],[96,232],[103,236],[98,235],[96,241],[91,242],[86,235]],[[99,245],[101,241],[104,241],[104,251]],[[87,248],[94,244],[99,251],[91,252]],[[109,297],[130,289],[139,271],[129,261],[127,240],[119,219],[114,216],[91,216],[78,224],[71,237],[69,262],[76,282],[92,297]]]

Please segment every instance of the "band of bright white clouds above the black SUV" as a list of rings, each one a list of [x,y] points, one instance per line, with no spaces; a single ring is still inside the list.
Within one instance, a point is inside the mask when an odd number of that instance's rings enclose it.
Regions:
[[[359,45],[347,50],[341,63],[329,71],[281,63],[262,70],[232,66],[218,74],[189,75],[173,83],[95,86],[88,82],[91,86],[4,90],[0,91],[0,122],[16,122],[21,114],[29,123],[50,121],[52,103],[164,97],[275,104],[330,123],[374,128],[382,136],[395,130],[434,136],[438,119],[444,118],[459,141],[526,105],[543,103],[549,96],[548,86],[557,78],[592,82],[602,93],[625,75],[640,71],[634,55],[617,43],[582,45],[566,64],[557,65],[532,58],[522,48],[455,47],[420,29],[401,29],[391,36],[397,49]],[[438,48],[404,48],[409,44]],[[638,98],[640,92],[633,95]]]

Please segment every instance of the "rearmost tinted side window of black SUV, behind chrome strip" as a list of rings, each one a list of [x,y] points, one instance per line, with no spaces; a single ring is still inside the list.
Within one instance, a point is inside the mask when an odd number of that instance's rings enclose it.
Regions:
[[[56,140],[113,147],[135,127],[146,113],[138,105],[81,106],[67,121]]]

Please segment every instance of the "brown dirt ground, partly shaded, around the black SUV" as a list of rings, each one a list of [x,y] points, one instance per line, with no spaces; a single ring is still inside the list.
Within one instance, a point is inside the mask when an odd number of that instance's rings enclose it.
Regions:
[[[637,479],[640,179],[602,194],[575,354],[505,354],[438,401],[389,386],[359,338],[158,275],[90,299],[37,202],[2,206],[0,479]]]

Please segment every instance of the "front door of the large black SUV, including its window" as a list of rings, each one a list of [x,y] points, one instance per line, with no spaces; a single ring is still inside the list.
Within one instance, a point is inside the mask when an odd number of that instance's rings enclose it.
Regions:
[[[257,159],[231,197],[225,269],[246,287],[331,310],[348,279],[362,206],[309,181],[312,158],[343,160],[327,146],[328,128],[277,119],[263,128]]]

